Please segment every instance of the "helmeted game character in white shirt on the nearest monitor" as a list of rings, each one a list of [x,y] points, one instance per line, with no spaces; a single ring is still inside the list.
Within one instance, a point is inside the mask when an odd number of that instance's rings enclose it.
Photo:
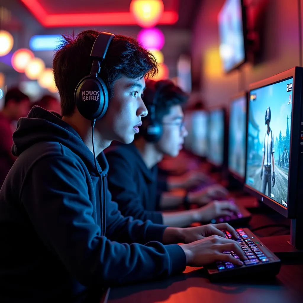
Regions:
[[[264,144],[263,144],[263,158],[262,158],[262,166],[261,166],[261,175],[260,178],[262,180],[262,192],[265,194],[266,185],[268,186],[268,197],[271,195],[271,163],[272,163],[272,187],[275,186],[275,158],[274,158],[274,135],[272,134],[272,130],[269,126],[271,119],[271,111],[270,107],[266,109],[265,112],[265,125],[267,126],[267,130],[264,136]],[[264,168],[264,169],[263,169]],[[264,172],[263,172],[264,171]],[[262,179],[263,178],[263,179]]]

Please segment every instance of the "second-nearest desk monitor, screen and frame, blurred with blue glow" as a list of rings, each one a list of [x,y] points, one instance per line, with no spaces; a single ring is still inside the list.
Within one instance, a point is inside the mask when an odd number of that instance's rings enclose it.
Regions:
[[[246,163],[247,93],[231,99],[228,132],[228,171],[242,184],[245,181]]]

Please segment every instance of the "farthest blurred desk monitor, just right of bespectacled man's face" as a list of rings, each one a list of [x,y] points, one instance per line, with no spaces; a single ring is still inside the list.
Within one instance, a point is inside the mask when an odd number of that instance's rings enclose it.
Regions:
[[[195,110],[184,115],[185,127],[188,131],[184,145],[192,154],[204,158],[207,151],[208,112]]]

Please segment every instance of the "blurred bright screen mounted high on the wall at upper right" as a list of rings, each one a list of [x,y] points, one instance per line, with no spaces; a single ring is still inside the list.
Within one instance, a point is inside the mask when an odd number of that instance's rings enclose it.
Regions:
[[[220,57],[225,72],[239,67],[246,60],[245,10],[243,0],[226,0],[218,15]]]

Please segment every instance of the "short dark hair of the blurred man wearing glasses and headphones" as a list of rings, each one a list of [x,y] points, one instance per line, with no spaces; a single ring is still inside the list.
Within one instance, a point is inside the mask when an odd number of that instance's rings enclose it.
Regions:
[[[160,123],[163,117],[169,113],[172,106],[183,105],[188,100],[188,94],[168,79],[160,81],[148,80],[145,87],[142,98],[145,105],[151,104],[157,94],[156,100],[154,101],[155,120]],[[144,118],[142,118],[142,121],[143,120]]]

